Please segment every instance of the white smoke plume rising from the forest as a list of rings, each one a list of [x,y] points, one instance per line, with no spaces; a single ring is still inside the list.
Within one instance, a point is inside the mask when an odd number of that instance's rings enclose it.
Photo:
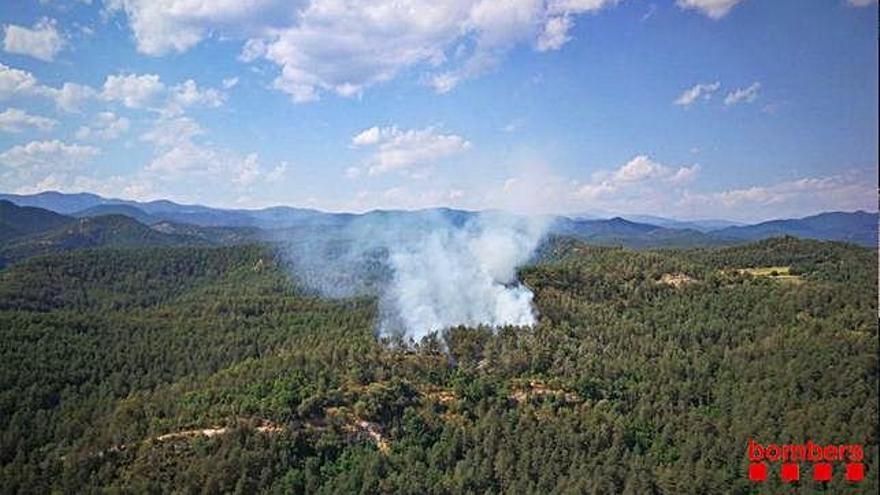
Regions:
[[[294,278],[328,297],[378,297],[384,334],[420,339],[458,325],[529,326],[533,294],[516,280],[546,220],[500,212],[372,212],[302,232]]]

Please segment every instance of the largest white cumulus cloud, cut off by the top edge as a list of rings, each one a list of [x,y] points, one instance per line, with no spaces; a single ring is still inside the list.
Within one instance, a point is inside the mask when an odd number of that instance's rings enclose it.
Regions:
[[[357,96],[411,68],[447,92],[518,44],[561,48],[577,16],[617,2],[111,0],[109,10],[126,15],[138,50],[151,55],[185,51],[216,31],[244,35],[239,59],[277,65],[273,86],[307,102]]]

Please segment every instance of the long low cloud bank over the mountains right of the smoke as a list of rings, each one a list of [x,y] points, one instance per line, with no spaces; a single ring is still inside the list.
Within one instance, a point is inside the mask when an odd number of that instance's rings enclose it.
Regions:
[[[822,211],[877,211],[876,167],[830,175],[750,184],[732,189],[695,189],[698,165],[669,166],[639,155],[587,180],[548,171],[508,177],[497,188],[482,187],[473,208],[507,207],[531,198],[523,211],[653,214],[682,219],[756,221],[799,218]]]

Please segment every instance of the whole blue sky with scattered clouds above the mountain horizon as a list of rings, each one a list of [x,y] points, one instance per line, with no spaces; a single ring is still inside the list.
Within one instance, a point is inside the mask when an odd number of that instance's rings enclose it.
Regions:
[[[877,208],[869,0],[22,0],[0,22],[4,192]]]

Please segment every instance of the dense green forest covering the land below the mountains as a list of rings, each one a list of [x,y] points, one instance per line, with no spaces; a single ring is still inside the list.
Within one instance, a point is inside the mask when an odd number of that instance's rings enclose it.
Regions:
[[[412,342],[268,246],[29,258],[0,271],[0,492],[788,491],[748,480],[754,438],[864,444],[863,482],[797,492],[876,493],[877,265],[554,238],[534,328]]]

